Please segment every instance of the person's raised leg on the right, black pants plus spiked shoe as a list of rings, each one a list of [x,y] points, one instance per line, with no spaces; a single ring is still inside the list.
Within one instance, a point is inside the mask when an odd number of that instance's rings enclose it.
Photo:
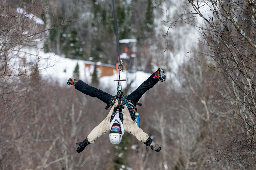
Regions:
[[[149,89],[154,87],[157,82],[164,81],[166,76],[162,68],[158,68],[155,73],[149,76],[149,78],[144,81],[136,90],[134,90],[130,95],[127,96],[128,100],[133,102],[138,102],[141,96]]]

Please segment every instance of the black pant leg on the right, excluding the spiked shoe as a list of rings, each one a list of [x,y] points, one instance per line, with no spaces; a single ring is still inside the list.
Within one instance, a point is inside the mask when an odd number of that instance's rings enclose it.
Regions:
[[[147,90],[149,90],[152,87],[154,87],[154,85],[156,85],[156,83],[159,81],[159,80],[155,80],[153,78],[154,75],[155,75],[155,73],[150,75],[149,78],[146,81],[144,81],[136,90],[134,90],[130,95],[127,96],[127,99],[131,100],[133,102],[138,102],[139,99],[141,98],[141,96]]]

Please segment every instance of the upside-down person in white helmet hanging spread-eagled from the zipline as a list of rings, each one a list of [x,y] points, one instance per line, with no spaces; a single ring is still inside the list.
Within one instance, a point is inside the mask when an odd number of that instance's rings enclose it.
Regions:
[[[107,104],[105,109],[111,107],[108,116],[96,126],[89,135],[83,140],[83,142],[78,142],[77,152],[80,153],[84,148],[94,143],[97,138],[102,134],[109,133],[109,140],[112,144],[118,144],[122,140],[124,132],[131,133],[139,141],[143,142],[146,146],[150,146],[152,150],[159,152],[161,146],[151,139],[147,133],[145,133],[141,128],[139,128],[134,123],[134,111],[136,111],[137,102],[142,97],[142,95],[152,87],[154,87],[159,81],[165,81],[166,76],[162,68],[158,68],[155,73],[150,75],[147,80],[145,80],[136,90],[134,90],[130,95],[123,97],[120,94],[120,90],[116,96],[112,96],[100,89],[92,87],[82,80],[76,80],[74,78],[69,78],[67,84],[75,86],[75,89],[80,92],[89,95],[91,97],[97,97],[101,101]],[[120,80],[120,79],[119,79]],[[128,107],[129,109],[128,109]]]

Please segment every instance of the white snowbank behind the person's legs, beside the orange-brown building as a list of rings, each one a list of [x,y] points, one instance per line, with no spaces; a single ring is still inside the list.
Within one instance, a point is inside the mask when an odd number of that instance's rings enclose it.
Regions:
[[[41,46],[40,43],[38,43],[38,46]],[[24,60],[26,64],[24,64]],[[76,78],[73,76],[73,72],[77,64],[79,65],[79,79],[87,84],[91,83],[92,76],[85,75],[85,63],[90,63],[89,61],[69,59],[52,52],[45,53],[41,48],[23,47],[20,49],[17,47],[16,50],[10,52],[10,61],[8,64],[12,66],[13,74],[18,74],[19,70],[25,71],[31,67],[35,67],[35,62],[39,62],[39,73],[43,79],[51,79],[51,81],[58,82],[60,86],[66,86],[69,78]],[[100,62],[97,62],[97,64],[104,65]],[[129,73],[126,70],[122,70],[120,72],[120,79],[126,79],[127,81],[120,82],[121,88],[126,88],[127,84],[132,82],[130,90],[133,91],[151,74],[143,71]],[[117,92],[118,81],[114,80],[118,80],[118,78],[118,72],[115,72],[112,76],[101,77],[99,78],[99,87],[107,88],[115,94]]]

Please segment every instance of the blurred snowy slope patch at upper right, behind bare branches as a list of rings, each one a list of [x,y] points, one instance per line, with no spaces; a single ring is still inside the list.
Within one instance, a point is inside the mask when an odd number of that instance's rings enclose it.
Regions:
[[[184,13],[184,11],[180,10],[180,6],[186,5],[184,3],[186,1],[179,1],[179,3],[176,1],[163,1],[156,10],[153,10],[155,14],[154,25],[156,26],[156,33],[162,35],[168,31],[168,36],[161,37],[160,40],[162,44],[168,44],[166,46],[168,48],[164,53],[159,53],[159,57],[156,57],[156,59],[168,59],[168,67],[174,73],[177,73],[179,70],[178,66],[188,59],[187,56],[189,53],[187,52],[192,51],[196,47],[199,38],[198,33],[200,32],[199,28],[192,27],[190,24],[184,24],[180,21],[181,19],[179,19],[180,22],[175,24],[177,26],[173,27],[174,25],[171,25],[173,21],[178,19],[178,16]],[[188,8],[186,10],[189,10]],[[198,19],[199,17],[196,18],[196,20]],[[173,49],[169,50],[169,46],[172,46]],[[158,46],[155,46],[155,48],[155,50],[158,50]],[[157,61],[153,62],[157,63]]]

